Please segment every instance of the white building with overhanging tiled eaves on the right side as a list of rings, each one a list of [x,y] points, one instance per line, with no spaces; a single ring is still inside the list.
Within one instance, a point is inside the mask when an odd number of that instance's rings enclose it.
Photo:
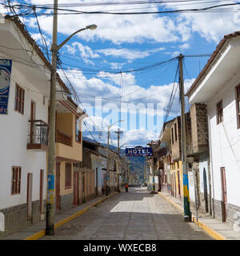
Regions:
[[[233,224],[240,214],[240,32],[222,39],[187,95],[191,104],[206,102],[213,213]]]

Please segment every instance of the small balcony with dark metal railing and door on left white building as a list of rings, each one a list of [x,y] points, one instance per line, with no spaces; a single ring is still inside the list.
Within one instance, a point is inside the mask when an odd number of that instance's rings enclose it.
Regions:
[[[47,150],[48,124],[42,120],[29,120],[28,150]]]

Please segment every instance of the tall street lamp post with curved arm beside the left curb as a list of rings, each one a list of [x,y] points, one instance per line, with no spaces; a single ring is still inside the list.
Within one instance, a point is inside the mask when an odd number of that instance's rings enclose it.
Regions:
[[[66,44],[78,32],[82,30],[95,30],[96,25],[86,26],[71,34],[61,44],[57,44],[58,34],[58,0],[54,0],[54,24],[53,41],[51,45],[52,63],[50,78],[50,118],[49,118],[49,145],[48,145],[48,169],[47,169],[47,198],[46,198],[46,234],[54,234],[54,214],[55,214],[55,112],[56,112],[56,82],[57,82],[57,54],[58,50]]]

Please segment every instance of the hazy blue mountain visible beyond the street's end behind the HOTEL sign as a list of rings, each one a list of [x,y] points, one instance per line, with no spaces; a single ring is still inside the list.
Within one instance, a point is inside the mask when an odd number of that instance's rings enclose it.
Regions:
[[[94,139],[88,138],[88,137],[82,137],[83,140],[88,141],[88,142],[95,142]],[[105,143],[100,143],[102,146],[107,146]],[[117,151],[116,146],[109,146],[110,150]],[[120,154],[122,156],[125,155],[125,150],[120,150]],[[128,157],[127,158],[130,161],[130,171],[135,171],[139,176],[140,179],[144,179],[144,162],[145,159],[144,157]]]

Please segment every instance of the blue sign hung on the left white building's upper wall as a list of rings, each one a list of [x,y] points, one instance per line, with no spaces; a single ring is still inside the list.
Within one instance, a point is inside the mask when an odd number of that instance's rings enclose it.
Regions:
[[[12,61],[0,59],[0,114],[7,114]]]

